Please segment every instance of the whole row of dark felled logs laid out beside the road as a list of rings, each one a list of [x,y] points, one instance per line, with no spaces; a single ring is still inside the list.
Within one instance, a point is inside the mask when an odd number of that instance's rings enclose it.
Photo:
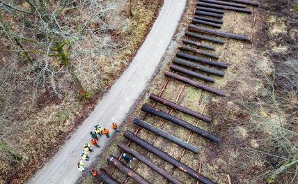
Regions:
[[[175,57],[173,58],[173,64],[169,65],[169,69],[171,71],[164,71],[164,75],[168,78],[166,85],[168,84],[168,81],[170,79],[173,79],[175,81],[185,83],[188,86],[194,86],[197,89],[207,91],[209,93],[214,93],[221,97],[225,97],[226,93],[224,93],[224,91],[220,91],[218,89],[214,89],[212,86],[209,86],[210,84],[214,84],[216,82],[215,79],[224,77],[224,70],[228,68],[228,61],[217,61],[217,59],[220,59],[220,56],[214,54],[213,51],[216,49],[217,45],[225,45],[226,43],[228,43],[229,39],[251,41],[251,38],[249,36],[244,36],[237,33],[219,31],[222,24],[224,24],[224,20],[222,20],[222,18],[224,17],[227,10],[251,14],[252,11],[250,6],[259,6],[259,3],[249,0],[198,0],[198,2],[196,3],[196,11],[194,12],[194,17],[192,19],[192,24],[190,24],[188,30],[185,31],[185,38],[182,38],[181,40],[179,52],[177,52]],[[202,41],[204,41],[204,43],[202,43]],[[166,85],[162,89],[162,92],[166,88]],[[160,174],[161,176],[166,178],[168,182],[182,184],[180,178],[175,178],[172,176],[173,172],[169,173],[168,171],[165,171],[157,164],[152,162],[152,160],[146,158],[147,153],[153,153],[165,162],[172,164],[174,168],[184,171],[186,174],[188,174],[192,178],[195,178],[201,183],[214,183],[209,178],[203,176],[202,174],[199,174],[198,171],[195,171],[194,169],[188,167],[186,164],[180,162],[179,159],[173,158],[171,155],[168,155],[168,153],[165,153],[161,149],[153,146],[154,141],[152,141],[152,143],[150,144],[148,141],[141,139],[137,135],[141,129],[145,129],[146,132],[155,135],[154,140],[156,140],[157,137],[162,137],[163,139],[171,141],[171,143],[183,148],[182,155],[185,153],[185,151],[189,151],[189,153],[192,152],[192,154],[199,154],[199,149],[195,145],[189,144],[189,139],[187,141],[183,141],[179,137],[171,135],[168,132],[164,131],[162,129],[162,126],[158,127],[156,125],[151,125],[148,121],[144,121],[147,115],[149,115],[152,118],[160,118],[163,122],[165,121],[166,123],[173,123],[173,127],[175,125],[178,125],[182,128],[185,128],[185,131],[189,130],[189,138],[193,133],[196,133],[197,135],[200,135],[203,138],[210,140],[216,144],[221,144],[221,142],[223,141],[217,135],[202,130],[198,127],[199,122],[201,121],[211,124],[212,119],[210,117],[205,116],[203,112],[198,113],[192,109],[189,109],[187,105],[179,105],[177,101],[173,102],[171,100],[167,100],[166,98],[162,98],[162,92],[159,95],[150,93],[149,99],[154,102],[153,105],[150,106],[147,104],[143,104],[143,106],[141,107],[141,111],[146,113],[146,116],[144,116],[143,119],[134,118],[134,125],[138,127],[136,132],[124,132],[123,136],[129,140],[129,143],[120,143],[118,144],[118,147],[125,153],[130,154],[134,158],[139,160],[139,163],[142,162],[143,164],[146,164],[148,167],[150,167],[150,169],[156,171],[157,174]],[[166,113],[160,109],[153,107],[157,103],[159,105],[164,105],[168,108],[171,108],[171,111],[169,113]],[[187,116],[191,116],[192,118],[197,118],[197,124],[193,125],[191,123],[188,123],[187,121],[182,120],[181,118],[173,116],[171,114],[171,112],[173,111],[186,114]],[[139,153],[130,148],[130,144],[132,142],[145,149],[147,151],[146,155],[142,155],[141,152]],[[113,157],[113,155],[110,156],[108,162],[129,176],[125,183],[128,181],[129,178],[133,178],[134,181],[136,181],[137,183],[149,183],[145,178],[141,176],[141,174],[136,173],[136,168],[138,167],[139,163],[136,164],[136,167],[134,169],[130,169],[125,164],[117,160],[117,158]],[[110,175],[112,174],[113,171]],[[105,183],[118,183],[103,170],[100,174],[100,178]]]

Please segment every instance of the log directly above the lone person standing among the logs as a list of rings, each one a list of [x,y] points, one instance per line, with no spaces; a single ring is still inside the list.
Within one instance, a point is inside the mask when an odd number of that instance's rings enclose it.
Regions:
[[[174,184],[182,184],[180,181],[178,181],[176,178],[171,176],[167,171],[164,171],[164,169],[161,169],[160,167],[157,166],[157,164],[153,163],[151,160],[148,158],[144,157],[141,155],[139,152],[132,150],[132,148],[128,147],[124,143],[119,143],[118,147],[123,149],[126,153],[130,153],[130,155],[134,156],[134,158],[140,160],[144,164],[146,164],[148,167],[150,167],[152,170],[156,171],[158,174],[164,176],[164,178],[168,179],[171,183]]]

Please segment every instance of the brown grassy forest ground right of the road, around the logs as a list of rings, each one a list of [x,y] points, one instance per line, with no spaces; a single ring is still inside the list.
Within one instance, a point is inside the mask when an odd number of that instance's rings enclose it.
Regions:
[[[121,153],[117,144],[127,142],[123,137],[125,130],[135,132],[137,126],[132,123],[134,118],[141,118],[141,106],[144,103],[153,104],[148,100],[148,94],[158,95],[166,81],[166,89],[162,98],[175,101],[196,112],[202,112],[212,118],[212,123],[198,121],[198,119],[173,111],[172,115],[198,125],[199,128],[212,132],[224,139],[223,144],[217,146],[198,135],[191,133],[173,123],[161,118],[148,116],[145,121],[162,128],[198,146],[198,155],[186,151],[182,155],[182,148],[161,137],[157,137],[153,145],[165,151],[189,167],[198,170],[216,183],[228,183],[228,178],[234,183],[266,183],[272,171],[281,167],[284,162],[293,158],[298,151],[298,76],[297,76],[297,1],[260,1],[261,6],[249,9],[251,15],[225,11],[224,24],[221,31],[239,33],[252,36],[252,43],[239,40],[225,39],[225,45],[214,45],[219,61],[228,63],[225,77],[214,77],[216,82],[208,84],[227,94],[226,98],[219,98],[210,93],[195,89],[173,79],[167,79],[163,71],[175,57],[181,38],[191,22],[196,9],[196,0],[187,1],[184,17],[178,26],[171,45],[164,56],[164,61],[157,71],[157,75],[146,93],[136,104],[134,111],[129,114],[120,127],[120,134],[113,137],[111,145],[99,155],[98,162],[91,168],[104,168],[108,173],[113,170],[107,163],[109,155],[116,158]],[[212,44],[203,41],[203,43]],[[194,80],[197,80],[194,78]],[[178,95],[180,93],[180,95]],[[155,107],[170,112],[168,107],[157,104]],[[138,136],[151,142],[155,135],[141,130]],[[131,148],[145,155],[146,151],[136,144]],[[196,183],[179,169],[164,162],[152,153],[146,157],[159,167],[177,177],[182,183]],[[132,168],[136,166],[135,160]],[[288,169],[276,183],[297,183],[297,164]],[[141,163],[136,172],[150,183],[166,183],[166,179]],[[127,181],[127,176],[116,169],[113,173],[120,183]],[[154,177],[152,177],[154,176]],[[77,183],[95,183],[95,178],[88,171]],[[135,183],[129,179],[127,183]]]

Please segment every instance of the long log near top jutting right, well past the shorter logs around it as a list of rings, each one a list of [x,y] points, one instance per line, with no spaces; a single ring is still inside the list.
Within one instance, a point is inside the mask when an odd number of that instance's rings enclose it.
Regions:
[[[215,36],[221,36],[221,37],[225,37],[225,38],[232,38],[232,39],[236,39],[236,40],[244,40],[244,41],[250,41],[251,38],[249,38],[248,36],[243,36],[240,34],[235,34],[235,33],[227,33],[227,32],[222,32],[222,31],[217,31],[214,29],[208,29],[202,26],[196,26],[194,24],[190,24],[189,28],[194,29],[195,31],[201,32],[201,33],[209,33]]]

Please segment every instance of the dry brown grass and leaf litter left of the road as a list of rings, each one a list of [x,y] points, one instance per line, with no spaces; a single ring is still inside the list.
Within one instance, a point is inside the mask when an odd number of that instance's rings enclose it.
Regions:
[[[83,86],[93,94],[90,101],[77,98],[77,91],[65,70],[58,70],[52,85],[51,73],[40,71],[45,67],[41,63],[26,66],[19,55],[1,52],[0,183],[23,183],[54,154],[61,141],[67,139],[129,65],[161,2],[132,1],[132,17],[125,0],[103,3],[102,9],[112,5],[110,10],[97,11],[102,13],[105,22],[94,21],[88,26],[116,26],[112,31],[99,32],[96,39],[88,35],[87,28],[86,39],[74,46],[74,50],[82,52],[72,53],[72,62]],[[90,18],[88,14],[86,17],[65,16],[74,22],[86,22]],[[8,49],[10,46],[3,41],[1,47]],[[35,75],[40,72],[44,72],[44,78]]]

